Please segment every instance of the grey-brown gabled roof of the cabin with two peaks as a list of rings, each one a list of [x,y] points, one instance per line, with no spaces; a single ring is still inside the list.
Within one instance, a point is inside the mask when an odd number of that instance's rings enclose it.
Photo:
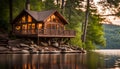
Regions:
[[[22,14],[29,14],[33,19],[36,21],[45,21],[47,18],[49,18],[51,15],[55,14],[58,15],[58,17],[65,23],[67,24],[68,22],[64,19],[64,17],[58,13],[56,10],[48,10],[48,11],[30,11],[30,10],[23,10],[13,21],[13,23],[16,22],[17,19],[21,17]]]

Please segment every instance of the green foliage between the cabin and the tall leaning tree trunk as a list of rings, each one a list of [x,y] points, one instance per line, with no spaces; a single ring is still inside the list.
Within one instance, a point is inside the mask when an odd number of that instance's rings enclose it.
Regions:
[[[63,15],[68,20],[69,24],[66,26],[67,29],[75,30],[76,37],[72,38],[70,43],[79,47],[82,47],[81,42],[81,25],[83,22],[84,12],[75,9],[79,1],[67,0],[64,10],[61,10]]]

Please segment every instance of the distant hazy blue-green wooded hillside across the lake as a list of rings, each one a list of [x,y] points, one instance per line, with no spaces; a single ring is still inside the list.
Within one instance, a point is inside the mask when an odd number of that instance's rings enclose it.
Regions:
[[[104,24],[106,47],[104,49],[120,49],[120,26]]]

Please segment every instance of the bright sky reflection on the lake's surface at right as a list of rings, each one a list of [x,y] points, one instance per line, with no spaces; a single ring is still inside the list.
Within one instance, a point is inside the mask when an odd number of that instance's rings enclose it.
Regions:
[[[95,50],[104,58],[104,65],[107,69],[120,69],[120,50],[119,49],[101,49]]]

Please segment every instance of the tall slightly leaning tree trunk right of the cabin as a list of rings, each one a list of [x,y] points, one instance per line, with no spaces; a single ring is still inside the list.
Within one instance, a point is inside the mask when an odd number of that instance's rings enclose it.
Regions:
[[[87,0],[87,8],[85,12],[85,22],[83,23],[83,34],[82,42],[86,42],[87,26],[88,26],[88,17],[89,17],[89,0]]]

